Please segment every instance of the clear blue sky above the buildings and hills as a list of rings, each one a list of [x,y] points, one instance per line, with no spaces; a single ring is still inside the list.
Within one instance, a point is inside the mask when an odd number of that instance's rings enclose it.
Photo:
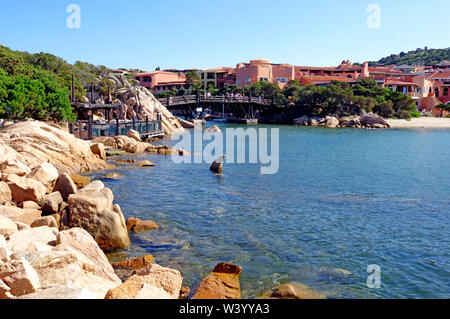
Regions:
[[[331,66],[450,47],[448,0],[0,0],[0,44],[112,68]],[[81,28],[69,29],[69,4]],[[368,5],[381,28],[366,25]]]

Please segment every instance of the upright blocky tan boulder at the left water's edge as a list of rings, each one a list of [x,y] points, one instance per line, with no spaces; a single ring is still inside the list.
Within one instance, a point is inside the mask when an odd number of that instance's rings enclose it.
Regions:
[[[119,205],[113,206],[111,190],[100,181],[90,183],[69,197],[69,225],[94,237],[102,249],[130,245],[125,218]]]

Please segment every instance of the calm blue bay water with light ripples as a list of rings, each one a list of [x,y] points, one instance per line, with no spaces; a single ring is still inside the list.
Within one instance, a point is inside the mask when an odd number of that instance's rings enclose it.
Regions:
[[[132,234],[110,257],[152,254],[191,290],[232,262],[244,297],[297,281],[335,298],[448,298],[449,146],[450,130],[282,126],[275,175],[133,156],[157,167],[117,166],[125,177],[104,183],[126,217],[161,229]],[[381,267],[380,289],[366,286],[370,264]]]

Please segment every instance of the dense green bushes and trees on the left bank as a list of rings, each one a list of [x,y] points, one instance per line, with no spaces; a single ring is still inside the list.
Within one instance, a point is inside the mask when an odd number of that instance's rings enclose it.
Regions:
[[[30,54],[0,46],[0,117],[12,120],[75,120],[70,105],[72,74],[75,98],[106,71],[77,61],[71,65],[49,53]]]

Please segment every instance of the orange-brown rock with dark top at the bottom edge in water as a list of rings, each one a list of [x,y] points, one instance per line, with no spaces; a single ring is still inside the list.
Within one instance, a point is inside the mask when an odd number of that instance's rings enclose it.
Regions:
[[[241,272],[239,266],[219,263],[211,274],[203,278],[192,299],[241,299]]]

